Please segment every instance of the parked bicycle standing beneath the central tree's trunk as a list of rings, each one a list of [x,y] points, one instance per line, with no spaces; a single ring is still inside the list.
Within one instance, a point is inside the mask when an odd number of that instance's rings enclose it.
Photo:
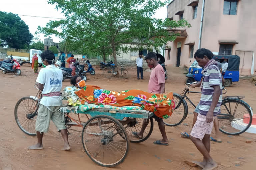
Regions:
[[[118,71],[121,72],[122,76],[128,73],[128,71],[123,67],[123,63],[121,63],[120,65],[112,65],[103,68],[103,75],[106,77],[112,77],[117,75]]]

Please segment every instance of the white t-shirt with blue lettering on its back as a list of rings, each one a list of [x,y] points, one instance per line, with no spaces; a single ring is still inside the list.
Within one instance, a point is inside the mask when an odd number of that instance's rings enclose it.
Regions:
[[[42,94],[48,94],[61,91],[62,79],[63,75],[61,69],[55,67],[55,65],[47,65],[40,70],[36,82],[44,85]],[[61,106],[61,96],[43,97],[40,104],[44,106]]]

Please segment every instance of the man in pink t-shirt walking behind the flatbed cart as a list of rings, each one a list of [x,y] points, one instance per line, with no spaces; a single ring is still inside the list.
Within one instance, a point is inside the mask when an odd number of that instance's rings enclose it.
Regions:
[[[156,54],[154,52],[149,52],[145,60],[149,66],[149,68],[153,68],[150,79],[148,83],[148,92],[149,93],[158,93],[162,94],[165,92],[165,74],[163,67],[158,63]],[[161,140],[154,141],[154,144],[158,145],[168,145],[168,139],[165,132],[165,125],[163,122],[163,119],[160,117],[157,117],[156,115],[153,116],[155,118],[155,121],[158,123],[158,127],[160,129],[160,132],[162,134]],[[142,124],[142,128],[140,132],[132,132],[133,135],[135,135],[137,138],[142,139],[144,130],[146,129],[147,125],[149,123],[149,119],[145,119]]]

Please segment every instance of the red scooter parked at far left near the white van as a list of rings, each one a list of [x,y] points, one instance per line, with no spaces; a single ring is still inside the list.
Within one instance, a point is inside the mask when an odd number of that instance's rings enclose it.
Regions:
[[[11,59],[9,60],[3,60],[0,69],[2,70],[3,74],[6,73],[17,73],[17,75],[21,75],[21,69],[20,69],[20,63],[13,59],[11,56]]]

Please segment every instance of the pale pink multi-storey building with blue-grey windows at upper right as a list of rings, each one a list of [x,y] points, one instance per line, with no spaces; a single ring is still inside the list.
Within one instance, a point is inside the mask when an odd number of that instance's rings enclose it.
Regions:
[[[165,50],[166,64],[187,66],[198,48],[214,54],[240,56],[240,75],[251,75],[256,69],[255,0],[173,0],[168,5],[170,20],[186,19],[191,28],[168,29],[180,33]],[[202,17],[203,14],[203,17]],[[200,34],[201,33],[201,34]]]

